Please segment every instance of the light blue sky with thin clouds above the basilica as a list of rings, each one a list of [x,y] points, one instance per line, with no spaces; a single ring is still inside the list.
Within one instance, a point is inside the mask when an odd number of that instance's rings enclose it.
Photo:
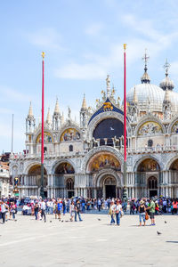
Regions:
[[[147,49],[151,83],[169,75],[178,86],[178,5],[169,0],[9,0],[0,3],[0,153],[25,149],[25,119],[32,102],[36,123],[41,112],[44,51],[45,116],[59,99],[61,112],[79,121],[85,93],[95,105],[106,77],[123,98],[123,44],[127,91],[140,84]]]

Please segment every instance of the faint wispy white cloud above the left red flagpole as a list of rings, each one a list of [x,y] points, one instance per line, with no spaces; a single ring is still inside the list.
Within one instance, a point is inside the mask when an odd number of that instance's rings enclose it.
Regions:
[[[61,49],[61,35],[54,28],[42,28],[36,32],[28,33],[28,41],[42,48]]]

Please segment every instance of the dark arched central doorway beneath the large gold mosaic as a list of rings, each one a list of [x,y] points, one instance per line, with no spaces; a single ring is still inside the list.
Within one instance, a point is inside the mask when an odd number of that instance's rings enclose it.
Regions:
[[[116,198],[117,182],[112,176],[107,176],[103,182],[105,198]]]

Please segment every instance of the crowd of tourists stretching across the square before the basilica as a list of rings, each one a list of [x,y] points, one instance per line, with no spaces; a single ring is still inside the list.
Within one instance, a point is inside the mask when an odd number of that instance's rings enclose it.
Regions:
[[[70,221],[82,221],[81,213],[95,210],[107,210],[110,215],[110,224],[120,225],[120,218],[129,210],[130,214],[139,214],[140,225],[145,225],[150,216],[151,226],[155,225],[155,215],[172,213],[177,214],[178,199],[171,198],[141,198],[121,200],[114,198],[1,198],[0,218],[3,223],[8,220],[16,221],[17,212],[22,215],[34,215],[36,221],[44,219],[46,214],[54,214],[54,218],[61,221],[61,214],[69,213]]]

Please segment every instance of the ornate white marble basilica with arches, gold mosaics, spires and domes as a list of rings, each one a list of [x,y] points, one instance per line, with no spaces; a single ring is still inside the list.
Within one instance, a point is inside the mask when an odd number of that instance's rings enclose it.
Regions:
[[[178,93],[168,76],[153,85],[145,68],[141,84],[126,96],[126,190],[129,198],[178,198]],[[48,198],[122,198],[124,188],[124,112],[115,89],[106,91],[93,109],[85,96],[80,123],[65,120],[56,101],[53,119],[44,123],[44,195]],[[12,155],[12,181],[19,178],[20,197],[39,196],[41,124],[30,104],[26,118],[26,150]],[[17,179],[16,179],[17,181]]]

